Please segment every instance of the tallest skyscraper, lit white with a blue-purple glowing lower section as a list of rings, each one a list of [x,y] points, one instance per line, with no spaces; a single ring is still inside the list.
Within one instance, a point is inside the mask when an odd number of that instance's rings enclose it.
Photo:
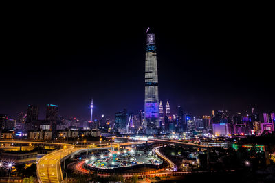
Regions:
[[[145,124],[146,134],[156,134],[159,129],[159,92],[157,79],[157,49],[155,34],[147,33],[145,60]]]

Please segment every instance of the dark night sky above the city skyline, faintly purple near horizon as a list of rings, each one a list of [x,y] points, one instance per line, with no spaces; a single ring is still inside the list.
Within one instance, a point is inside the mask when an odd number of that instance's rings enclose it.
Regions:
[[[199,116],[214,109],[274,111],[270,16],[245,6],[187,9],[144,9],[142,16],[10,12],[1,26],[0,114],[17,117],[34,104],[44,119],[53,103],[63,117],[89,119],[92,98],[95,117],[114,119],[123,108],[137,114],[144,108],[147,27],[157,39],[159,99],[168,99],[172,112],[178,105]]]

